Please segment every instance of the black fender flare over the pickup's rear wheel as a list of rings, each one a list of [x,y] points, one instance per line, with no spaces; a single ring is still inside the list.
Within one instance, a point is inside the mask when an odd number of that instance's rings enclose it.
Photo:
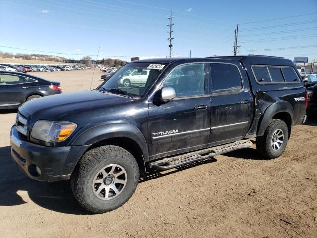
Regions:
[[[257,136],[264,135],[264,132],[267,128],[267,125],[270,121],[270,119],[273,118],[273,116],[277,113],[286,112],[291,116],[292,122],[291,126],[293,125],[293,118],[294,118],[294,110],[292,105],[287,101],[278,101],[270,105],[263,113],[262,119],[260,120],[258,130],[257,130]]]

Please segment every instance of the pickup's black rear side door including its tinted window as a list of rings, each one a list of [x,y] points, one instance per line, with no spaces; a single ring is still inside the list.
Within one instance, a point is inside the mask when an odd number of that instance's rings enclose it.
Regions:
[[[208,146],[244,138],[252,122],[253,97],[241,64],[210,63],[211,134]]]

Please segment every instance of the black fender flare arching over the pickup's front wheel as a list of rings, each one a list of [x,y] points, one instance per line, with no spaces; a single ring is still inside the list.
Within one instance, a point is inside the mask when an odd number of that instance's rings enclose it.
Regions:
[[[113,123],[89,128],[77,136],[72,145],[91,145],[118,137],[126,137],[135,141],[142,150],[144,162],[149,161],[148,147],[143,134],[136,126],[127,123]]]

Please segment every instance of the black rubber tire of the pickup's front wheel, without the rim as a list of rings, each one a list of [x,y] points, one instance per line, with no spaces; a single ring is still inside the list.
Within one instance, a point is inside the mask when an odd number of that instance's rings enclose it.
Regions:
[[[92,183],[95,174],[109,164],[122,166],[127,173],[127,182],[116,198],[101,200],[94,194]],[[128,151],[118,146],[101,146],[89,150],[71,175],[71,187],[76,200],[92,213],[105,213],[122,206],[133,195],[138,181],[138,163]]]

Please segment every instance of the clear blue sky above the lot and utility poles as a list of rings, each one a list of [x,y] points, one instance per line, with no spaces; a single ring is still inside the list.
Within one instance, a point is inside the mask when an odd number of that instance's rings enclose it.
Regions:
[[[239,23],[238,54],[317,59],[316,0],[0,0],[0,51],[166,56],[170,9],[175,56],[232,55]]]

